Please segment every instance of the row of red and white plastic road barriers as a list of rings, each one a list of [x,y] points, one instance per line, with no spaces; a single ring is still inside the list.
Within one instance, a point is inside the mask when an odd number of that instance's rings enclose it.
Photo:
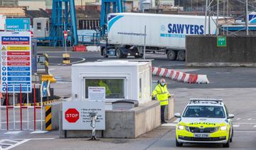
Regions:
[[[151,71],[154,76],[161,76],[184,83],[210,83],[205,74],[186,74],[181,71],[159,67],[152,67]]]

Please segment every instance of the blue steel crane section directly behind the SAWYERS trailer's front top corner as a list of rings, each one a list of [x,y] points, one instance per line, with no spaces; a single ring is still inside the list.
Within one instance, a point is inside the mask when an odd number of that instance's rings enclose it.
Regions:
[[[124,12],[123,4],[124,1],[122,0],[102,0],[102,6],[100,11],[101,36],[106,35],[107,14]]]

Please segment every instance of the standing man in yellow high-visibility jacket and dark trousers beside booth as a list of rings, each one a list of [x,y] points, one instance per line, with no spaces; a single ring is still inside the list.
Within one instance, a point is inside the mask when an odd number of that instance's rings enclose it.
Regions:
[[[165,79],[161,79],[159,84],[156,86],[152,93],[152,98],[157,99],[160,101],[161,105],[161,124],[167,123],[164,120],[164,110],[166,108],[166,105],[168,105],[168,98],[171,97],[167,86]]]

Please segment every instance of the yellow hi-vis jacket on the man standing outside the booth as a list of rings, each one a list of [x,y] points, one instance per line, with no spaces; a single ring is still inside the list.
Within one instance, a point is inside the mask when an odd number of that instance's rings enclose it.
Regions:
[[[152,96],[157,98],[160,101],[160,105],[168,105],[168,97],[171,96],[167,90],[167,86],[161,86],[159,83],[154,89]]]

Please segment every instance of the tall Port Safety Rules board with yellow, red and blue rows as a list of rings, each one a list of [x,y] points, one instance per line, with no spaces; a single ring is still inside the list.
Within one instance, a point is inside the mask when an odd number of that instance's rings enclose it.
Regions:
[[[0,33],[1,92],[31,93],[31,33]]]

